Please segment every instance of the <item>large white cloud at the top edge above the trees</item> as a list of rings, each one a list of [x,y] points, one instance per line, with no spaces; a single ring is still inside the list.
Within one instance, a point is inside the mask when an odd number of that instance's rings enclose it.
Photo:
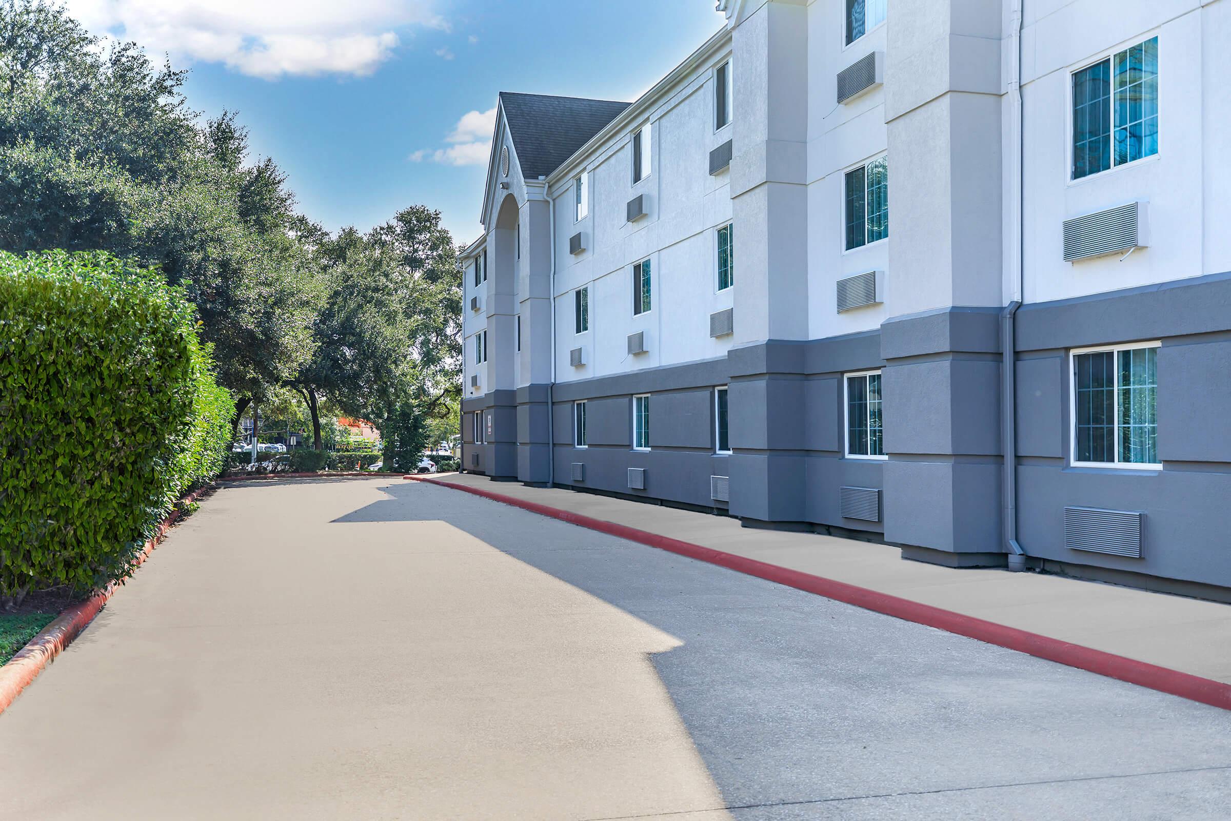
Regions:
[[[399,30],[447,30],[437,0],[68,0],[95,34],[252,76],[372,74]]]

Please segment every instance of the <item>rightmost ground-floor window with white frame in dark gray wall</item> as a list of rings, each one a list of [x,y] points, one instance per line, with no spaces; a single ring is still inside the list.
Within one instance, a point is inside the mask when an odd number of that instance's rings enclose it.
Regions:
[[[1157,342],[1073,352],[1073,464],[1161,467],[1157,353]]]

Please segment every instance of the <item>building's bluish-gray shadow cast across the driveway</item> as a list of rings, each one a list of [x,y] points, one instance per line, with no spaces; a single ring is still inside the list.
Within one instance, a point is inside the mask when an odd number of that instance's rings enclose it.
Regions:
[[[651,661],[739,819],[1091,819],[1107,801],[1215,819],[1231,800],[1231,713],[457,490],[384,491],[335,522],[448,522],[680,639]]]

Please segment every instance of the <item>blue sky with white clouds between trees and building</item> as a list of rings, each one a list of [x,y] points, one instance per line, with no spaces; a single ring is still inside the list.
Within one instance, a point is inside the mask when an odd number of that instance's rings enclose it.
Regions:
[[[633,100],[721,25],[714,0],[68,0],[191,68],[330,230],[412,203],[475,239],[499,91]]]

